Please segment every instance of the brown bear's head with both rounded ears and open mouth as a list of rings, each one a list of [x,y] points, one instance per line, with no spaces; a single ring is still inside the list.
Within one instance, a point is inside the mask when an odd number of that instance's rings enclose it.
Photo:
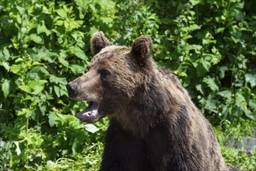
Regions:
[[[129,48],[112,45],[102,32],[94,33],[91,38],[94,57],[88,71],[67,84],[69,97],[88,103],[77,117],[93,123],[105,115],[117,116],[128,111],[152,68],[152,48],[152,40],[146,36],[138,37]]]

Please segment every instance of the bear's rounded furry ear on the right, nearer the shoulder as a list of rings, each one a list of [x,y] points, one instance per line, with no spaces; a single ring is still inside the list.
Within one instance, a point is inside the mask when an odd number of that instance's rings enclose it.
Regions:
[[[153,43],[150,37],[141,36],[138,37],[132,44],[132,55],[135,56],[136,61],[140,66],[146,64],[146,61],[150,58],[150,52],[153,50]]]

